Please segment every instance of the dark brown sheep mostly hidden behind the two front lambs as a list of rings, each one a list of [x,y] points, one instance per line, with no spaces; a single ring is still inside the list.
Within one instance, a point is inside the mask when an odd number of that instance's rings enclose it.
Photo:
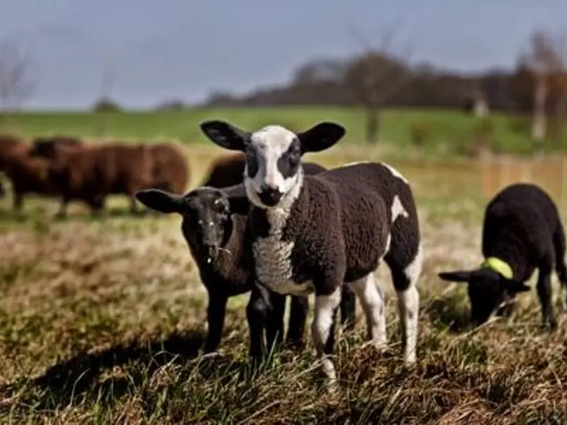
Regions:
[[[318,163],[303,162],[305,174],[318,174],[327,169]],[[206,179],[200,186],[214,188],[225,188],[244,182],[244,167],[246,161],[240,152],[217,158],[209,167]],[[245,211],[242,211],[245,214]],[[356,301],[355,294],[351,288],[344,285],[342,289],[341,301],[341,326],[346,330],[352,330],[356,320]]]

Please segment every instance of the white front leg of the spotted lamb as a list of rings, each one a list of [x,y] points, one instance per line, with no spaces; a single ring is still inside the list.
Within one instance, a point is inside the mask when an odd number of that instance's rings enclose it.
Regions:
[[[332,331],[332,318],[334,311],[341,303],[341,287],[337,288],[330,295],[316,295],[315,297],[315,317],[311,324],[311,332],[315,342],[317,355],[321,357],[323,371],[331,384],[337,380],[332,360],[325,353],[325,345]]]

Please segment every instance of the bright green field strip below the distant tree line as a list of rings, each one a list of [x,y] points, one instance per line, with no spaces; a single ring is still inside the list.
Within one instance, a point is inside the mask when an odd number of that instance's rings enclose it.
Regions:
[[[199,108],[182,112],[26,112],[3,119],[1,131],[24,136],[77,135],[126,140],[175,139],[203,142],[198,124],[205,119],[225,119],[255,129],[267,124],[307,128],[318,121],[337,121],[347,128],[344,143],[364,141],[364,111],[338,107]],[[461,111],[385,110],[381,115],[381,140],[388,151],[420,154],[462,154],[480,138],[492,149],[527,154],[531,151],[529,123],[519,117],[492,114],[487,120]],[[418,134],[418,136],[415,136]],[[420,143],[412,144],[418,137]],[[565,147],[549,142],[547,148]]]

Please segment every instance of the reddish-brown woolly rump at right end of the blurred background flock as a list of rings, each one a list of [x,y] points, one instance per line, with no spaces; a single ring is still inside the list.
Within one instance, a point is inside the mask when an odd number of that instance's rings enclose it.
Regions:
[[[147,145],[152,156],[152,185],[172,193],[185,193],[189,185],[189,159],[176,144],[159,142]]]

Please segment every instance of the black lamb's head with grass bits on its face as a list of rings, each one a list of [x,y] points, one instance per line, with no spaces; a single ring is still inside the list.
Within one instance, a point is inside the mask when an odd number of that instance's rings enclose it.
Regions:
[[[135,197],[156,211],[181,214],[185,240],[207,262],[216,260],[230,239],[233,228],[230,203],[219,189],[196,188],[186,195],[145,189],[135,193]]]

